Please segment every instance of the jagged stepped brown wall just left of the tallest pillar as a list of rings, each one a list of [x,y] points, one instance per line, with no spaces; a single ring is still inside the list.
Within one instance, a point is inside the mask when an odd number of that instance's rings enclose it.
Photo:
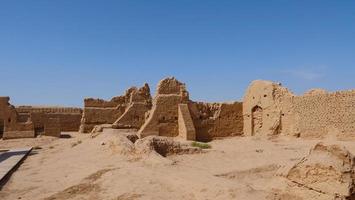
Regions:
[[[80,132],[91,132],[96,125],[102,124],[114,124],[116,128],[139,128],[150,106],[151,96],[148,84],[139,89],[132,87],[123,96],[114,97],[110,101],[85,99]]]

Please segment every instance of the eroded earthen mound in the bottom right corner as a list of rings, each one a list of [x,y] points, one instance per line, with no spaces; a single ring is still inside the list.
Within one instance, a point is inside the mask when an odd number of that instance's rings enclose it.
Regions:
[[[345,147],[318,143],[287,178],[299,186],[339,199],[353,199],[354,155]]]

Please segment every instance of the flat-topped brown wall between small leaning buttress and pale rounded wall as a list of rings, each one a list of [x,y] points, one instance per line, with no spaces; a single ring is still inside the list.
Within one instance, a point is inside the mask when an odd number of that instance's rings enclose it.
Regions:
[[[196,129],[196,140],[243,134],[243,103],[190,102],[189,108]]]

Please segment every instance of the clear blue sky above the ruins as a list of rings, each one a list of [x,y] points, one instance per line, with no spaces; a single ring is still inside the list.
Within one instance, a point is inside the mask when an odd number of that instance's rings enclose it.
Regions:
[[[355,88],[355,1],[1,0],[0,96],[82,106],[175,76],[193,100],[254,79]]]

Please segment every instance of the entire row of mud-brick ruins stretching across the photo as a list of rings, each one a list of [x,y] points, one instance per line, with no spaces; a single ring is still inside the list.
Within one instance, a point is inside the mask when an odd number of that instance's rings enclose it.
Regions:
[[[89,133],[96,126],[136,129],[141,138],[156,135],[197,141],[242,135],[349,139],[355,132],[355,91],[313,89],[297,96],[280,83],[256,80],[247,88],[243,102],[205,103],[190,100],[186,85],[169,77],[159,82],[154,98],[144,84],[109,101],[85,99],[83,111],[15,108],[8,97],[0,98],[3,138],[34,137],[42,132],[58,136],[55,130]]]

